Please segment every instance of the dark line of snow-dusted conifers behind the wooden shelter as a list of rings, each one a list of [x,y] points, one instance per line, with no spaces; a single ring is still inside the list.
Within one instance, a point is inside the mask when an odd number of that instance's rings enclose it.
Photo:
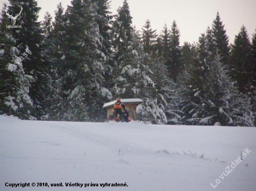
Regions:
[[[0,113],[29,120],[104,121],[105,102],[141,98],[141,121],[154,124],[254,126],[256,32],[234,44],[219,13],[197,43],[180,44],[173,21],[156,33],[132,25],[127,0],[72,0],[38,21],[27,0],[11,28],[0,15]],[[9,6],[19,13],[19,6]],[[30,51],[31,54],[28,53]],[[17,62],[18,60],[18,62]]]

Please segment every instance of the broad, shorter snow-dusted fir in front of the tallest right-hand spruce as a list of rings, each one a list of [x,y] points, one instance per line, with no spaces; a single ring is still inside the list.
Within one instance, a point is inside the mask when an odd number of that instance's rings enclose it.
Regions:
[[[238,92],[218,55],[205,62],[199,59],[180,82],[185,124],[254,126],[249,98]]]

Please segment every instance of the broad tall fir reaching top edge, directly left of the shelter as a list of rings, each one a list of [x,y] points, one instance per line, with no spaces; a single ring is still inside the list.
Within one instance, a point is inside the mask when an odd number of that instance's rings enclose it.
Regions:
[[[92,0],[73,0],[64,16],[61,78],[64,103],[68,104],[65,120],[99,120],[103,117],[99,108],[110,95],[102,87],[106,57],[94,17],[96,7]]]

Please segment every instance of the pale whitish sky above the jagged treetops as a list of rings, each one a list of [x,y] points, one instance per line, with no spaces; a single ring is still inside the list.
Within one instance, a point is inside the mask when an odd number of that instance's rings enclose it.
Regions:
[[[26,0],[24,0],[26,1]],[[225,30],[229,36],[229,43],[234,42],[235,35],[240,32],[242,25],[248,30],[249,37],[256,29],[256,0],[127,0],[133,25],[137,30],[149,19],[152,29],[156,29],[159,34],[166,23],[171,28],[173,21],[177,23],[180,30],[180,43],[184,41],[189,43],[197,42],[201,33],[205,32],[207,27],[212,25],[216,18],[217,11],[220,13],[221,20],[225,25]],[[7,0],[0,0],[7,2]],[[57,10],[57,4],[61,2],[66,9],[71,0],[38,0],[40,11],[40,20],[46,11],[54,18],[54,11]],[[119,6],[122,6],[123,0],[112,0],[111,11],[116,13]],[[0,7],[2,5],[0,4]]]

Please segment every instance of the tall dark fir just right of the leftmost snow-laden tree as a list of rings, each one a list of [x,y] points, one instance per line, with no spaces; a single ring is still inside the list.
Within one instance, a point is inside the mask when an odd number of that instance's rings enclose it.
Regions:
[[[11,6],[10,11],[19,13],[20,6],[22,6],[22,12],[19,19],[17,19],[22,27],[19,28],[19,32],[12,31],[12,36],[15,39],[15,46],[20,51],[19,61],[25,74],[34,78],[34,83],[31,83],[29,89],[29,96],[34,102],[34,116],[40,119],[42,115],[45,115],[44,111],[47,106],[44,102],[47,99],[46,92],[49,91],[49,78],[47,77],[49,76],[49,67],[42,54],[44,48],[43,35],[38,21],[41,8],[38,7],[35,0],[27,0],[17,5]],[[24,52],[27,52],[27,57],[21,56]]]

